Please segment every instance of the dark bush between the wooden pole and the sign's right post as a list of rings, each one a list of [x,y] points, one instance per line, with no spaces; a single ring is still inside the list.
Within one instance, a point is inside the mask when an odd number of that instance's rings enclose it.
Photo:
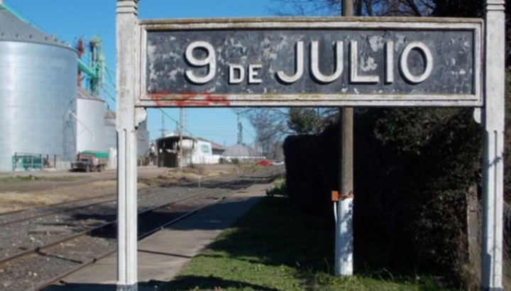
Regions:
[[[456,275],[466,193],[480,169],[471,109],[371,109],[359,119],[357,234],[377,229],[386,263]]]

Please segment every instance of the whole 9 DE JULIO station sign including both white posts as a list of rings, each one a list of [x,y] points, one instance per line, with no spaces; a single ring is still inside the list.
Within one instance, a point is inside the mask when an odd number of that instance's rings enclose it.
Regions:
[[[502,290],[504,0],[485,0],[484,20],[139,20],[137,11],[138,0],[117,0],[117,290],[138,282],[137,128],[147,107],[186,106],[479,107],[481,287]]]

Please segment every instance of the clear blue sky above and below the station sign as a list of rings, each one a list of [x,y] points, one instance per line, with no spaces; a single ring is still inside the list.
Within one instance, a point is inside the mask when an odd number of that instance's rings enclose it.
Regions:
[[[73,45],[78,37],[85,40],[99,35],[106,56],[106,65],[115,71],[115,18],[116,0],[4,0],[21,12],[36,27]],[[138,17],[148,18],[202,18],[271,16],[278,5],[275,0],[141,0]],[[111,99],[107,101],[114,106]],[[165,109],[167,115],[179,120],[177,109]],[[158,109],[148,112],[150,138],[160,136],[162,113]],[[165,116],[165,128],[174,131],[175,121]],[[243,141],[251,143],[255,132],[248,121],[242,119]],[[236,143],[236,114],[233,109],[185,109],[187,133],[207,138],[221,145]]]

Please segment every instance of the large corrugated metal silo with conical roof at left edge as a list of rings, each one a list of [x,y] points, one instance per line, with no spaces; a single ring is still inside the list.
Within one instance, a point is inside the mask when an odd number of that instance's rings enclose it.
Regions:
[[[0,9],[0,172],[13,170],[13,156],[21,153],[69,167],[76,153],[76,78],[75,50]]]

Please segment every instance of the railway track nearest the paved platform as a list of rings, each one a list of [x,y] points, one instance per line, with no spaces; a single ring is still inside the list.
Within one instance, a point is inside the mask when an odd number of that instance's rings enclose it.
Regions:
[[[272,171],[275,170],[272,169]],[[238,190],[267,180],[274,174],[268,171],[255,172],[250,176],[231,178],[230,181],[223,179],[211,181],[208,188],[173,187],[180,188],[184,194],[177,195],[179,198],[171,202],[156,203],[153,206],[147,204],[139,208],[138,236],[143,238],[153,234],[199,209],[216,204]],[[116,210],[116,207],[114,209]],[[0,289],[40,290],[65,275],[114,253],[116,251],[115,215],[113,219],[87,229],[53,237],[55,239],[48,243],[27,248],[0,260]]]

